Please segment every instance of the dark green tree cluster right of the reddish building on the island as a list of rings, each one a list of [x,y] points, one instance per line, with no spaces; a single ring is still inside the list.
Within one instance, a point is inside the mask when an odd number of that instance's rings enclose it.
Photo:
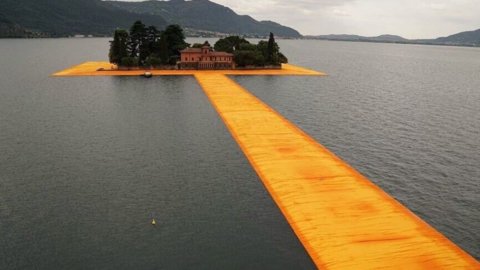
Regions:
[[[256,45],[239,36],[226,37],[217,41],[214,48],[215,51],[233,53],[238,67],[279,66],[288,63],[287,57],[280,52],[273,33],[270,33],[268,41],[262,40]]]

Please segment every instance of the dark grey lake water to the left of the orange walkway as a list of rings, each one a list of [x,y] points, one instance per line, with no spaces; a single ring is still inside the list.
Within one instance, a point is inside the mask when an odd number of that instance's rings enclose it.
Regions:
[[[314,268],[192,77],[48,77],[106,41],[0,41],[0,269]]]

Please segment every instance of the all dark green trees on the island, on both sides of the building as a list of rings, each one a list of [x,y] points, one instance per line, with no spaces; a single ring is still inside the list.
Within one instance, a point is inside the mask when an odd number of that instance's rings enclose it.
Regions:
[[[194,44],[201,48],[202,44]],[[179,25],[169,25],[159,31],[154,26],[145,26],[136,21],[129,31],[117,29],[110,41],[110,62],[121,67],[175,65],[180,52],[189,47],[185,42],[183,29]],[[280,52],[273,33],[268,41],[252,44],[245,38],[229,36],[218,40],[216,51],[232,53],[238,67],[280,66],[288,59]]]

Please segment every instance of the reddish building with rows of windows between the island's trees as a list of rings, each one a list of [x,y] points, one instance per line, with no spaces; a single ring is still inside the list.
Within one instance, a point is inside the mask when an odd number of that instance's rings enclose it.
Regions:
[[[234,69],[233,54],[215,52],[208,41],[202,48],[186,48],[180,51],[180,69]]]

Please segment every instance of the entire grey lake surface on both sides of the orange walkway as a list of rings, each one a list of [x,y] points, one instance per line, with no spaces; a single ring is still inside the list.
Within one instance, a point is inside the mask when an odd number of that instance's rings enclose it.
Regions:
[[[329,76],[234,80],[480,258],[480,49],[279,43]],[[0,40],[0,269],[315,268],[194,78],[49,77],[107,52]]]

